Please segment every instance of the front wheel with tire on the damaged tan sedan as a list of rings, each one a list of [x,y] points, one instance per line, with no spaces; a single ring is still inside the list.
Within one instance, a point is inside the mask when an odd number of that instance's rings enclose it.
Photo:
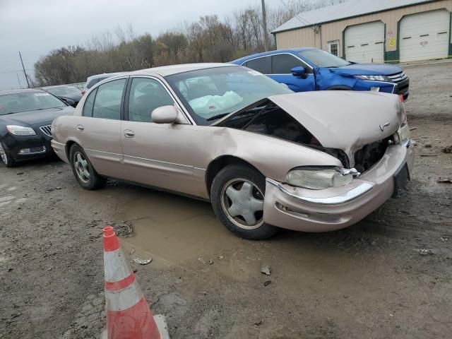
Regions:
[[[210,189],[213,210],[228,230],[244,239],[263,240],[278,228],[263,222],[265,177],[244,165],[218,172]]]

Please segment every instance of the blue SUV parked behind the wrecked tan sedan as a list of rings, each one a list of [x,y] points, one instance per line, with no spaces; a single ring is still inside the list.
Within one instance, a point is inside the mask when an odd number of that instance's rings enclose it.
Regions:
[[[403,69],[387,64],[356,64],[316,48],[279,49],[232,61],[285,83],[295,92],[310,90],[370,90],[410,94]]]

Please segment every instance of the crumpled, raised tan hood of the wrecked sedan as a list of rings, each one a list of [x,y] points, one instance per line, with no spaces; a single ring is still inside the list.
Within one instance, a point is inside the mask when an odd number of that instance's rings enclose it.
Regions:
[[[400,98],[386,93],[334,90],[268,99],[297,119],[323,147],[344,150],[349,156],[364,145],[391,136],[403,119]],[[385,124],[388,126],[383,128]]]

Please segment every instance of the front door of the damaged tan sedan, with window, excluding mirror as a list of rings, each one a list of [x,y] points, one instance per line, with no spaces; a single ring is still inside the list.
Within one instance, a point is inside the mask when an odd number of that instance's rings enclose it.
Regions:
[[[121,126],[126,178],[163,189],[198,195],[194,184],[191,124],[155,124],[151,112],[174,105],[156,78],[132,78]]]

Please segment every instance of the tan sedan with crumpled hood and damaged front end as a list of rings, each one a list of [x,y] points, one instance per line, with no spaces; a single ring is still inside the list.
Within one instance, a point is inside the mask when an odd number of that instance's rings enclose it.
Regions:
[[[230,64],[109,78],[52,135],[83,188],[112,177],[203,198],[248,239],[352,225],[405,189],[413,163],[398,96],[292,93]]]

